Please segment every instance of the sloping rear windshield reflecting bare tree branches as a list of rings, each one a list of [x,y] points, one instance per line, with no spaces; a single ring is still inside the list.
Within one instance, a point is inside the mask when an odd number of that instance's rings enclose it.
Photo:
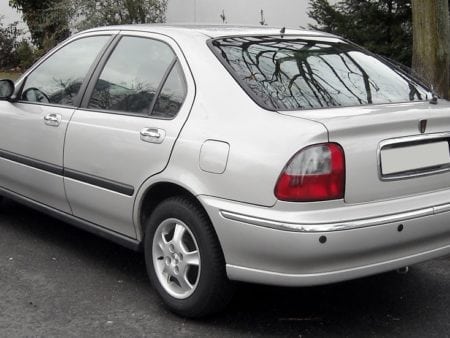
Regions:
[[[210,48],[261,106],[349,107],[431,98],[398,66],[338,39],[227,37]]]

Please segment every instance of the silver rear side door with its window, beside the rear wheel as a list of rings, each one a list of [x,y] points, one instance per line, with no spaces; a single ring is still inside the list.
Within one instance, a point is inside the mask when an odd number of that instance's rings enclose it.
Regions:
[[[135,238],[136,192],[165,168],[194,86],[170,38],[120,35],[70,122],[65,188],[75,216]]]

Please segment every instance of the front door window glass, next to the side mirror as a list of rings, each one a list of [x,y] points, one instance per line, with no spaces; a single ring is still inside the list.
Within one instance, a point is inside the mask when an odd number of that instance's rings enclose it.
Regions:
[[[89,68],[109,39],[86,37],[59,49],[28,75],[21,99],[73,106]]]

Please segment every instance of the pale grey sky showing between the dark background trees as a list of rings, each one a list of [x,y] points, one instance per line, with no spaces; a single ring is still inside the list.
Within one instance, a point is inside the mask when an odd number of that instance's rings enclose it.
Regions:
[[[169,0],[168,23],[222,23],[222,10],[228,24],[258,25],[261,9],[269,26],[306,27],[311,19],[306,14],[308,0]],[[3,22],[20,21],[20,13],[0,0]]]

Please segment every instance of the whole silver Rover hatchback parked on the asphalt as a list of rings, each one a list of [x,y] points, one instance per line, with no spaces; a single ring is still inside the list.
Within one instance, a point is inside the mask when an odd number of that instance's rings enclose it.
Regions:
[[[143,250],[183,316],[450,253],[449,102],[339,37],[102,27],[0,96],[0,195]]]

